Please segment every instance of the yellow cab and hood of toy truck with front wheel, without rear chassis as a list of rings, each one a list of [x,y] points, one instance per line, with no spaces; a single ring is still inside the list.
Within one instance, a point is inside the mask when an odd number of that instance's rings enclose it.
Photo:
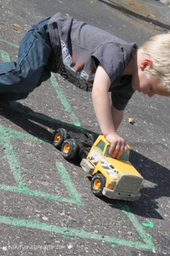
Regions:
[[[141,196],[143,177],[129,162],[130,147],[117,160],[108,153],[110,144],[99,135],[80,165],[91,178],[94,195],[135,201]]]

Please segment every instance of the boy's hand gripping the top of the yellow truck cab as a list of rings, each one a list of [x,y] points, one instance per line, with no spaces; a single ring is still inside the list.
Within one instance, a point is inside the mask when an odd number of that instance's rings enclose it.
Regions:
[[[108,134],[106,140],[110,143],[109,154],[112,155],[113,158],[119,159],[121,154],[128,150],[126,141],[115,132]]]

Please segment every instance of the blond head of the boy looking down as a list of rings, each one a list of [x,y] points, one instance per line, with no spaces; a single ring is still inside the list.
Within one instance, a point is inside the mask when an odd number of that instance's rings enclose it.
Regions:
[[[148,96],[170,96],[170,34],[156,35],[138,49],[137,69],[134,89]]]

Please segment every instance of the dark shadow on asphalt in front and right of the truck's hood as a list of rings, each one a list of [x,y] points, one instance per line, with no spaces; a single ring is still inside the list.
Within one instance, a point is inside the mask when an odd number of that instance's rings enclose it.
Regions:
[[[146,218],[163,219],[159,213],[157,199],[170,197],[170,170],[131,150],[130,162],[144,178],[141,197],[134,202],[125,202],[101,197],[111,207],[130,211]],[[152,183],[151,183],[152,182]]]

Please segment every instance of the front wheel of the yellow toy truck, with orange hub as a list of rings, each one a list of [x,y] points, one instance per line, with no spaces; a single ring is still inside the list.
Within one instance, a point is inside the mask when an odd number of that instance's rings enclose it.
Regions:
[[[91,191],[96,196],[102,196],[102,191],[106,184],[106,178],[100,173],[97,173],[91,179]]]

